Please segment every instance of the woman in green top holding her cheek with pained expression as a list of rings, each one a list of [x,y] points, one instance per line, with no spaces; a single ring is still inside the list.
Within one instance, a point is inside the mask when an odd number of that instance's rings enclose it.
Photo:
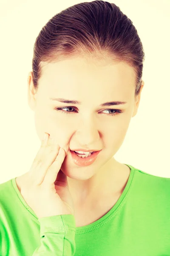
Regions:
[[[0,184],[2,256],[170,255],[170,179],[114,159],[143,61],[113,3],[79,3],[42,28],[28,74],[41,146],[28,172]]]

